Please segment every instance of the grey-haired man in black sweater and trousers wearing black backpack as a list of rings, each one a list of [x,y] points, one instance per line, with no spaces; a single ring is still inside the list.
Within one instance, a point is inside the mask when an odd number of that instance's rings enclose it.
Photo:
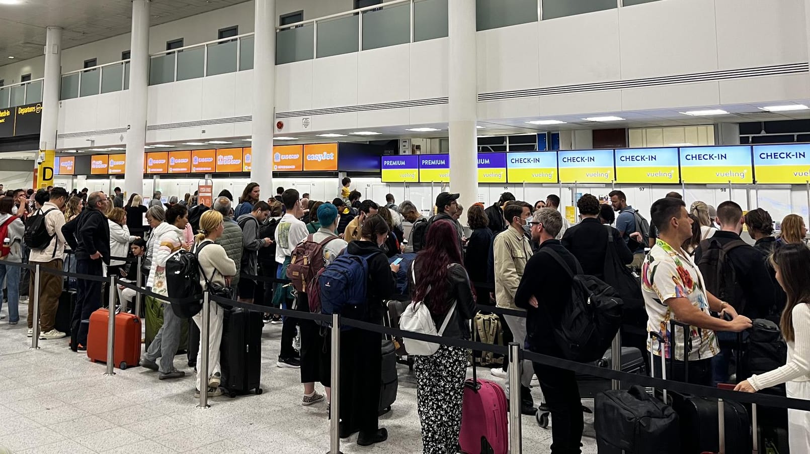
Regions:
[[[562,215],[554,208],[535,212],[529,223],[531,237],[540,247],[527,261],[514,296],[518,308],[526,309],[529,350],[562,358],[553,337],[561,328],[565,306],[571,304],[571,283],[582,267],[556,236],[563,226]],[[504,234],[505,235],[505,234]],[[535,374],[551,410],[554,452],[579,452],[582,442],[582,403],[573,371],[534,363]]]

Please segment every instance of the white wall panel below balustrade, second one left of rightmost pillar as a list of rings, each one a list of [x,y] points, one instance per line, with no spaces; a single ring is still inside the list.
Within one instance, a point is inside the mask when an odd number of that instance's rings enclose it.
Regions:
[[[365,50],[357,63],[357,104],[410,99],[410,45]]]

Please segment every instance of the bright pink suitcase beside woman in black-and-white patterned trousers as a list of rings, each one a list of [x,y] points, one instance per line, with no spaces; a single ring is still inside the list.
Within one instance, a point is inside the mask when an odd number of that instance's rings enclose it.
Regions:
[[[461,434],[458,443],[469,454],[506,454],[509,451],[506,394],[501,386],[475,376],[464,383]]]

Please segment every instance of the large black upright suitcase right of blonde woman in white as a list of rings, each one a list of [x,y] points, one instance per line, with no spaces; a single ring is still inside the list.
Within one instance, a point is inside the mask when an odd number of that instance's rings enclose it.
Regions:
[[[260,388],[262,367],[262,312],[242,308],[225,309],[220,346],[221,386],[230,397],[256,392]]]

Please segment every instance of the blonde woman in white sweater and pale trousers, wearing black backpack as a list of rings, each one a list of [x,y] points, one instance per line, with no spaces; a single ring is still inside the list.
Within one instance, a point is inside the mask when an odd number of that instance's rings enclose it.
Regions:
[[[237,264],[228,257],[225,249],[216,244],[215,241],[222,236],[224,224],[222,214],[219,211],[207,210],[200,217],[200,232],[194,237],[194,253],[197,254],[197,261],[202,269],[200,285],[206,288],[207,282],[220,284],[220,286],[230,286],[231,278],[237,274]],[[220,396],[222,389],[220,383],[222,379],[220,369],[220,342],[222,342],[222,320],[224,309],[219,304],[211,303],[209,308],[211,322],[208,325],[208,397]],[[203,312],[199,312],[194,317],[194,323],[202,332]],[[203,340],[200,339],[200,347],[197,354],[197,364],[202,364],[200,355],[203,354]],[[197,374],[197,392],[194,397],[199,397],[202,386],[200,374]]]

